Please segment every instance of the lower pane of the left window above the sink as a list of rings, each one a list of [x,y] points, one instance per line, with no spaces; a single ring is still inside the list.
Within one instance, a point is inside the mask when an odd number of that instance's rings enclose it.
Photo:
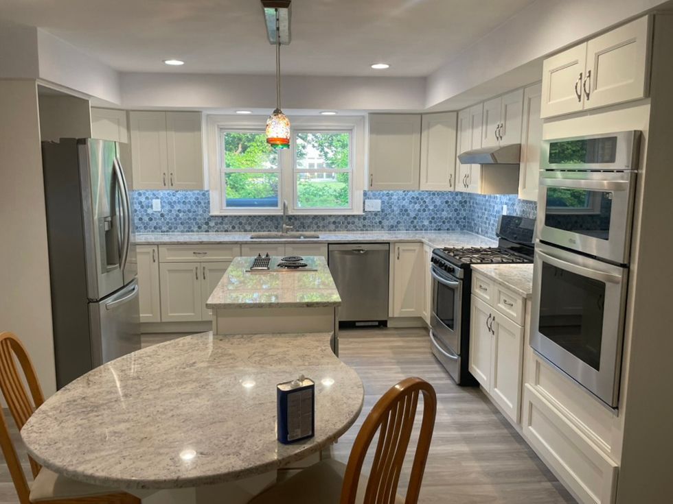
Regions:
[[[277,173],[226,173],[226,208],[277,208]]]

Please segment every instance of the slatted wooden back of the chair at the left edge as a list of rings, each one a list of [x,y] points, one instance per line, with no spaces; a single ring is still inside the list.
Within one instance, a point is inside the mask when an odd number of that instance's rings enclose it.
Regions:
[[[25,388],[23,379],[21,379],[21,374],[19,374],[19,368],[16,366],[17,361],[21,366],[25,383],[28,384],[30,395]],[[19,429],[19,431],[34,411],[45,401],[28,352],[21,340],[12,333],[0,333],[0,390],[12,414],[16,429]],[[21,504],[24,501],[28,503],[27,499],[30,491],[23,474],[21,461],[16,454],[16,448],[12,444],[12,437],[4,413],[0,416],[2,417],[0,421],[0,440],[3,455],[10,468],[16,493],[19,494],[19,501],[21,501]],[[33,477],[36,477],[41,466],[32,457],[28,457],[28,459]]]

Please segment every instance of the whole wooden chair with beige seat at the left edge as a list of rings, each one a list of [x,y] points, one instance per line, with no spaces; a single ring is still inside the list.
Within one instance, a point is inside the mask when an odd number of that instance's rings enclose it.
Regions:
[[[21,380],[16,361],[30,389],[28,396]],[[25,347],[14,334],[0,333],[0,389],[14,418],[17,429],[21,430],[32,413],[44,403],[45,398],[38,382],[33,364]],[[113,488],[81,483],[57,475],[43,468],[28,457],[34,481],[28,485],[21,461],[12,444],[5,414],[0,411],[0,446],[10,470],[16,494],[21,504],[48,502],[52,504],[140,504],[137,497],[119,492]]]

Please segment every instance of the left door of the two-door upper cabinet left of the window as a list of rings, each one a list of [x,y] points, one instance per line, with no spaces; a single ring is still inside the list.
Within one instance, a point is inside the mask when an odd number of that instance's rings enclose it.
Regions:
[[[168,189],[166,112],[129,112],[133,189]]]

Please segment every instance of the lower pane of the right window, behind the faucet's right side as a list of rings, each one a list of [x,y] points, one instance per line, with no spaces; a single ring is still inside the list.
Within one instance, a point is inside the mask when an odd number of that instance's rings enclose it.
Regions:
[[[299,208],[350,208],[350,173],[298,173]]]

